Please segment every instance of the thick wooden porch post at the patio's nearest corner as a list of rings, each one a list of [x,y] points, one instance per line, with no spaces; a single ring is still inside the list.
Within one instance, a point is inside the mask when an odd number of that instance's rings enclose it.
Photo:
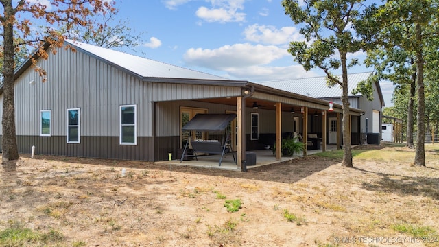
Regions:
[[[237,97],[237,165],[238,169],[247,172],[246,166],[246,99]]]

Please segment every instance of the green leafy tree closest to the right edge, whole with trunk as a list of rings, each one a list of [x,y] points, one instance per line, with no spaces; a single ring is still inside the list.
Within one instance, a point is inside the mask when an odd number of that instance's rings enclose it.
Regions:
[[[436,0],[386,1],[379,8],[369,8],[368,11],[373,14],[361,21],[361,33],[378,44],[375,49],[399,46],[414,57],[418,127],[414,164],[421,166],[425,166],[425,45],[438,34],[437,10]],[[401,32],[400,27],[407,30],[407,35]]]

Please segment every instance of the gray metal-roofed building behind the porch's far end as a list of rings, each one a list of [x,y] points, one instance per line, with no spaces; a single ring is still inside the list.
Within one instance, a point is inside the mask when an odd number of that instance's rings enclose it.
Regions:
[[[348,75],[348,97],[351,108],[364,110],[365,114],[361,116],[360,121],[352,119],[351,128],[353,128],[352,143],[353,144],[379,144],[381,141],[381,123],[382,109],[384,104],[383,94],[379,82],[374,87],[373,101],[368,101],[363,95],[353,95],[351,92],[357,88],[359,82],[366,80],[372,73],[353,73]],[[258,82],[264,86],[270,86],[275,89],[306,95],[308,97],[316,97],[342,104],[340,96],[342,95],[341,86],[327,86],[327,77],[300,78],[292,80],[278,80],[270,82]],[[335,118],[329,119],[329,126],[336,121]],[[358,131],[359,130],[359,131]],[[361,133],[357,136],[356,133]],[[336,133],[329,130],[329,143],[334,143],[335,138],[331,135]]]

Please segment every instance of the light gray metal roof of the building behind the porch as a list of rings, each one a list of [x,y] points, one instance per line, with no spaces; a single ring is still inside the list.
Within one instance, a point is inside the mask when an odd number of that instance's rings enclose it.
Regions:
[[[371,74],[372,72],[349,74],[348,96],[361,96],[361,94],[353,95],[352,91],[357,87],[359,82],[366,80]],[[341,75],[337,75],[337,77],[341,80]],[[315,98],[332,98],[340,97],[342,95],[341,86],[327,86],[326,76],[255,83]]]

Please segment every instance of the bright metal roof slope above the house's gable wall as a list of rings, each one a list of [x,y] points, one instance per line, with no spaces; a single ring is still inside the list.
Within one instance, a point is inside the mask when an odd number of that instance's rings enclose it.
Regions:
[[[74,40],[65,40],[66,43],[73,45],[77,49],[106,60],[115,66],[130,71],[141,78],[185,78],[195,80],[229,80],[217,75],[210,75],[200,71],[185,69],[164,62],[158,62],[140,56],[126,54],[121,51],[106,49],[95,45],[88,45]],[[231,81],[231,80],[230,80]]]

